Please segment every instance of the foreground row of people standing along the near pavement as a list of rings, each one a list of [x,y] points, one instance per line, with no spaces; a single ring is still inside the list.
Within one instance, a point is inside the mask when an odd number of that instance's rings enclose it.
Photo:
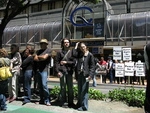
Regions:
[[[32,78],[38,81],[39,104],[51,105],[50,92],[47,86],[48,66],[52,52],[48,48],[47,39],[41,39],[41,49],[35,52],[32,46],[26,46],[23,52],[19,52],[19,46],[12,44],[10,55],[0,49],[0,68],[7,65],[10,67],[12,77],[0,80],[0,110],[7,110],[6,101],[13,102],[18,97],[18,78],[23,75],[24,99],[22,105],[31,102]],[[61,41],[61,50],[57,52],[54,70],[60,78],[60,106],[77,108],[79,111],[88,110],[89,80],[95,73],[94,56],[88,51],[85,43],[79,42],[71,49],[70,39]],[[3,64],[3,60],[6,63]],[[74,103],[73,73],[78,81],[78,102]],[[8,96],[6,95],[8,93]]]

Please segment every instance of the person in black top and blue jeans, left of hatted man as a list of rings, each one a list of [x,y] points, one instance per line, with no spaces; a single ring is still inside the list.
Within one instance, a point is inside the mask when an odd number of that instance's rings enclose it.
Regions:
[[[23,105],[26,103],[29,103],[31,100],[31,82],[32,82],[32,76],[33,76],[33,53],[34,53],[34,49],[31,48],[26,48],[24,55],[25,55],[25,59],[22,62],[21,68],[22,68],[22,72],[24,75],[24,82],[23,82],[23,86],[24,86],[24,101],[23,101]]]

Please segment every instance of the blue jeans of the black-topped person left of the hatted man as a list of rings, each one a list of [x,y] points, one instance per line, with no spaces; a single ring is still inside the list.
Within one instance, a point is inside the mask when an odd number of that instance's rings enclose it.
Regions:
[[[24,72],[24,101],[30,102],[31,99],[31,78],[32,70],[27,70]]]

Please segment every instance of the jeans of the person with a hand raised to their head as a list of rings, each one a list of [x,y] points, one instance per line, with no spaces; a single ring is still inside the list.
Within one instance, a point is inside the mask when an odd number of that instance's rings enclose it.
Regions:
[[[89,82],[86,82],[86,77],[80,73],[78,75],[78,106],[84,110],[88,110],[88,90]]]

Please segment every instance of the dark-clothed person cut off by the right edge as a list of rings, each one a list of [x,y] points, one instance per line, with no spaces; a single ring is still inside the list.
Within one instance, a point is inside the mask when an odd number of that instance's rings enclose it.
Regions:
[[[146,68],[146,97],[144,102],[145,113],[150,113],[150,43],[144,46],[144,60]]]

